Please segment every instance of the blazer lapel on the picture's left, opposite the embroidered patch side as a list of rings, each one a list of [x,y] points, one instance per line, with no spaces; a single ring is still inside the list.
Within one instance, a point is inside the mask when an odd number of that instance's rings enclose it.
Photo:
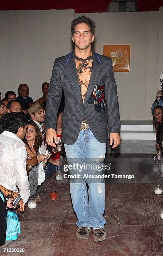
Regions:
[[[67,63],[67,73],[69,76],[69,79],[72,83],[72,86],[74,87],[75,92],[79,96],[81,102],[83,103],[82,96],[81,96],[81,90],[79,86],[79,80],[77,77],[77,69],[75,65],[75,59],[74,59],[74,51],[72,52],[69,61]]]

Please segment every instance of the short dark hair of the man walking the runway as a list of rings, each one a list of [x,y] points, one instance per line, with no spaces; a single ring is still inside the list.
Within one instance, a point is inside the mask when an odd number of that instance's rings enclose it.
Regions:
[[[79,23],[86,23],[90,28],[92,36],[94,35],[96,23],[93,20],[91,20],[90,18],[86,17],[85,15],[81,15],[81,16],[79,16],[79,18],[72,20],[72,22],[71,22],[72,36],[74,35],[74,32],[75,32],[75,26]]]

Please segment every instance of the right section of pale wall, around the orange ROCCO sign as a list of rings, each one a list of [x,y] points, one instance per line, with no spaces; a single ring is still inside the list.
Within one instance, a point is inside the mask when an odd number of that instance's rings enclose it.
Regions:
[[[114,73],[121,120],[152,119],[151,105],[158,90],[159,12],[84,15],[96,21],[98,53],[103,54],[103,44],[131,44],[131,71]]]

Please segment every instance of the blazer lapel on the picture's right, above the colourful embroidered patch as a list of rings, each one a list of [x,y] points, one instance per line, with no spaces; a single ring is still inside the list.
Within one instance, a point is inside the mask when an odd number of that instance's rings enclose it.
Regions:
[[[87,102],[91,93],[93,92],[96,81],[97,81],[97,79],[99,77],[99,74],[101,72],[100,63],[99,63],[99,60],[98,60],[96,54],[94,53],[94,51],[92,51],[92,54],[93,54],[93,67],[92,67],[92,72],[91,72],[91,77],[90,77],[90,80],[89,80],[88,88],[87,88],[87,91],[86,91],[86,97],[85,97],[85,100],[84,100],[84,104]]]

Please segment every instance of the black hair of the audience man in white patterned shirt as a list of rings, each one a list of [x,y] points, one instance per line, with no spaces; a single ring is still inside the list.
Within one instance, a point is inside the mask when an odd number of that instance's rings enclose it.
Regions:
[[[7,113],[0,119],[0,132],[10,131],[16,134],[20,127],[25,127],[29,120],[27,114],[23,112]]]

